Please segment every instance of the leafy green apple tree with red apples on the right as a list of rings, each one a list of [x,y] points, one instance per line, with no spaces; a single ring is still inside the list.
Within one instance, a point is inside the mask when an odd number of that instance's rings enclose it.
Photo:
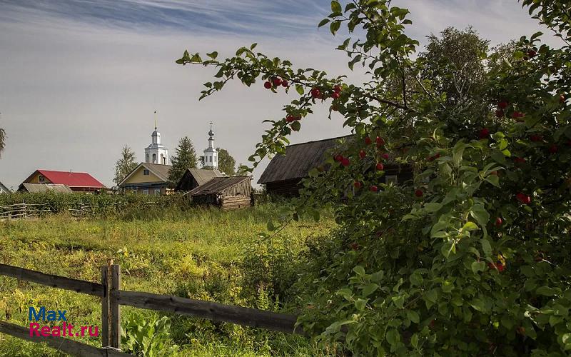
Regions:
[[[332,34],[347,27],[353,37],[338,49],[350,69],[368,70],[362,85],[294,69],[254,52],[255,44],[224,61],[188,51],[178,59],[218,69],[201,99],[235,78],[298,93],[283,119],[267,121],[254,167],[284,152],[314,105],[330,103],[353,129],[328,169],[310,173],[292,216],[268,226],[279,230],[304,212],[318,218],[325,203],[335,209],[341,228],[325,244],[333,249],[325,266],[304,276],[310,304],[299,321],[325,345],[342,343],[360,356],[571,351],[570,9],[563,0],[522,3],[565,45],[542,44],[541,33],[522,36],[491,55],[486,69],[480,43],[480,62],[470,59],[477,90],[468,100],[483,105],[461,115],[450,106],[464,96],[451,97],[447,79],[462,69],[450,68],[450,56],[413,59],[418,41],[405,34],[408,10],[386,0],[333,0],[319,24]],[[282,81],[284,89],[276,85]],[[370,165],[387,153],[414,164],[413,183],[380,182],[384,171]]]

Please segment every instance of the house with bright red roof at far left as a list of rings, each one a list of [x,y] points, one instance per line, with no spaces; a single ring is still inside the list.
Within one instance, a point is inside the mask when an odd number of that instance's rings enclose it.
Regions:
[[[103,183],[86,172],[36,170],[24,180],[18,191],[27,191],[24,183],[65,185],[74,192],[96,192],[106,189]]]

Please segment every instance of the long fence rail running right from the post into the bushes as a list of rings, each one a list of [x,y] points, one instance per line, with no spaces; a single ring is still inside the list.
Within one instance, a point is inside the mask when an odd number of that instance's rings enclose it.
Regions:
[[[303,334],[300,327],[295,328],[294,331],[297,317],[293,315],[138,291],[118,291],[116,293],[118,293],[118,302],[121,305],[167,311],[178,315],[207,318],[213,321],[231,322],[274,331]]]

